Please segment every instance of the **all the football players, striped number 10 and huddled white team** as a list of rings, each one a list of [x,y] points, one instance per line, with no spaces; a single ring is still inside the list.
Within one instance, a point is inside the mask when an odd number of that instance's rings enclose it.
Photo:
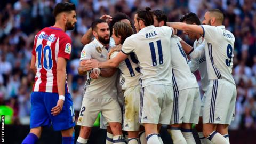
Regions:
[[[22,143],[35,143],[42,126],[51,124],[61,130],[62,143],[74,143],[74,108],[66,81],[71,40],[65,31],[76,23],[75,5],[57,4],[54,16],[55,25],[35,36],[30,133]],[[85,46],[78,73],[87,79],[76,143],[87,143],[99,113],[102,127],[107,127],[106,143],[125,143],[122,130],[128,132],[129,144],[163,143],[162,124],[168,125],[173,143],[195,143],[192,124],[198,121],[202,143],[229,143],[236,100],[231,75],[235,37],[222,26],[223,19],[220,10],[211,9],[202,25],[194,13],[167,22],[163,11],[146,7],[134,15],[137,33],[122,13],[92,22],[81,40]],[[176,29],[195,41],[193,47],[175,35]],[[201,100],[192,73],[197,69]]]

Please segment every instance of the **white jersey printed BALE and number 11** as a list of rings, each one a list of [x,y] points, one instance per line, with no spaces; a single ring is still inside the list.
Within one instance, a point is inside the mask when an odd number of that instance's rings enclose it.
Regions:
[[[126,38],[122,52],[134,52],[141,68],[142,87],[162,84],[172,85],[170,38],[172,29],[167,26],[142,28],[137,34]]]

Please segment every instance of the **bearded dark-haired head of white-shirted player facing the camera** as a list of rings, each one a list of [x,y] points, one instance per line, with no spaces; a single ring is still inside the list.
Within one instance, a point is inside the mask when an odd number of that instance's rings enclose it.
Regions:
[[[96,19],[92,22],[92,33],[98,41],[103,44],[109,44],[109,26],[105,20]]]

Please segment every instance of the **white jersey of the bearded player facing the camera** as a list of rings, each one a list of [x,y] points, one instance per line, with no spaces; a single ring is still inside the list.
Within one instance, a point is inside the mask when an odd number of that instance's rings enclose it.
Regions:
[[[109,47],[113,45],[110,44]],[[110,50],[110,48],[109,48]],[[108,50],[96,38],[89,44],[86,44],[81,52],[80,60],[90,58],[97,59],[100,62],[107,61]],[[99,76],[98,79],[90,77],[91,71],[87,72],[87,81],[85,83],[84,97],[87,98],[117,98],[115,73],[111,77]]]

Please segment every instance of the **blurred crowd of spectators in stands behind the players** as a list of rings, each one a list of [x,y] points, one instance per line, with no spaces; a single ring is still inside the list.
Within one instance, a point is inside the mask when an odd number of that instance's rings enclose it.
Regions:
[[[13,111],[12,124],[29,124],[30,93],[34,74],[30,71],[35,34],[54,24],[52,10],[60,0],[0,1],[0,105]],[[224,25],[236,38],[233,76],[237,85],[235,121],[230,129],[256,129],[256,1],[255,0],[73,0],[77,24],[67,31],[73,49],[68,62],[68,84],[76,115],[81,107],[85,77],[77,68],[83,49],[81,37],[91,22],[103,14],[124,12],[133,19],[134,12],[150,6],[163,10],[169,21],[179,21],[187,13],[197,13],[203,20],[207,9],[218,8],[225,14]],[[188,37],[179,33],[189,44]],[[197,76],[198,77],[198,76]],[[198,79],[199,82],[199,79]],[[225,95],[223,95],[225,97]],[[1,108],[0,106],[0,108]]]

